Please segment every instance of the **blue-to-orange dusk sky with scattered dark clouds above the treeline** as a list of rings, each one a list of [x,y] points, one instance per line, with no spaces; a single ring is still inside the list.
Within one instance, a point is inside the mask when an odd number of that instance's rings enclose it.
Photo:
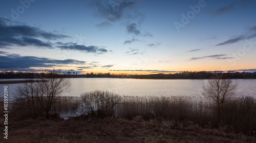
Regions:
[[[256,1],[2,0],[0,71],[256,71]]]

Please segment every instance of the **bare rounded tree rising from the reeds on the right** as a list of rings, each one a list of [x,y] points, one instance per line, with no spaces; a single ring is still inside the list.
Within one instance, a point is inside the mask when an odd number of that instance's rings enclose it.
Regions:
[[[216,102],[218,124],[223,111],[223,103],[226,99],[235,94],[237,87],[238,84],[231,79],[209,79],[207,83],[203,85],[203,95]]]

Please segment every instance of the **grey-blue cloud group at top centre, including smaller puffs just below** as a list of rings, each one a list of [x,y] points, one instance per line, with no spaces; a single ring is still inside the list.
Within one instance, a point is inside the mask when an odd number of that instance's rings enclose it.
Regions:
[[[141,23],[145,15],[138,12],[136,5],[140,1],[130,0],[130,1],[105,1],[105,0],[93,0],[91,1],[91,7],[94,8],[96,16],[106,20],[105,22],[99,23],[96,26],[103,28],[110,26],[110,22],[127,22],[136,21]],[[149,32],[141,33],[138,30],[137,24],[131,23],[126,25],[126,31],[129,34],[134,34],[136,36],[142,35],[143,37],[153,37],[153,34]]]

